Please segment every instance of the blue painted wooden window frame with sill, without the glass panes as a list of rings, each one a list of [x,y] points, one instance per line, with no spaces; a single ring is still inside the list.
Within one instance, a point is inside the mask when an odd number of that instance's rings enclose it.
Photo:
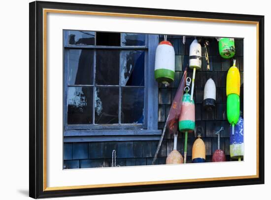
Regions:
[[[64,142],[159,140],[158,130],[158,84],[154,78],[155,51],[158,34],[146,34],[145,46],[97,46],[69,45],[68,31],[63,30],[63,132]],[[110,125],[68,125],[68,51],[69,49],[119,49],[145,51],[144,123]],[[94,58],[96,55],[94,53]],[[95,62],[95,60],[94,60]]]

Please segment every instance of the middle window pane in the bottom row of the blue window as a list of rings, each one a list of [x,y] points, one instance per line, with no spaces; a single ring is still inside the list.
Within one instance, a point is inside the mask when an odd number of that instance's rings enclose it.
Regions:
[[[96,87],[95,124],[119,123],[119,88]]]

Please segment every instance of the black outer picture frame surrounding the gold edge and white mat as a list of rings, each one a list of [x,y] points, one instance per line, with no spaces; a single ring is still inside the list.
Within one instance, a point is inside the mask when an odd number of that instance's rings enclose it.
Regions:
[[[238,186],[264,184],[264,16],[228,14],[214,12],[198,12],[184,10],[167,10],[138,7],[105,6],[78,3],[46,2],[34,1],[30,6],[30,133],[29,133],[29,196],[32,198],[49,198],[62,196],[96,195],[96,194],[116,194],[161,190],[177,190],[192,188],[208,188],[221,186]],[[95,11],[95,12],[113,12],[141,15],[159,15],[172,17],[187,17],[201,19],[219,19],[219,20],[238,20],[253,21],[258,23],[258,177],[233,180],[215,180],[185,183],[165,183],[151,185],[118,186],[118,187],[100,187],[100,188],[82,188],[65,190],[44,190],[43,174],[43,8]]]

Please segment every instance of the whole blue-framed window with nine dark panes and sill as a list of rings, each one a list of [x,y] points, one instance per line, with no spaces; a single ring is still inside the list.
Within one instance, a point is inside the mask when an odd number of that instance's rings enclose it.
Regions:
[[[159,138],[157,45],[154,34],[64,30],[66,141]]]

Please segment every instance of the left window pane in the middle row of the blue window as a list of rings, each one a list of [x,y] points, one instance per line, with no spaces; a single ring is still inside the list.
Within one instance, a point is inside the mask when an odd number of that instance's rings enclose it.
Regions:
[[[93,50],[69,50],[68,85],[93,85]]]

